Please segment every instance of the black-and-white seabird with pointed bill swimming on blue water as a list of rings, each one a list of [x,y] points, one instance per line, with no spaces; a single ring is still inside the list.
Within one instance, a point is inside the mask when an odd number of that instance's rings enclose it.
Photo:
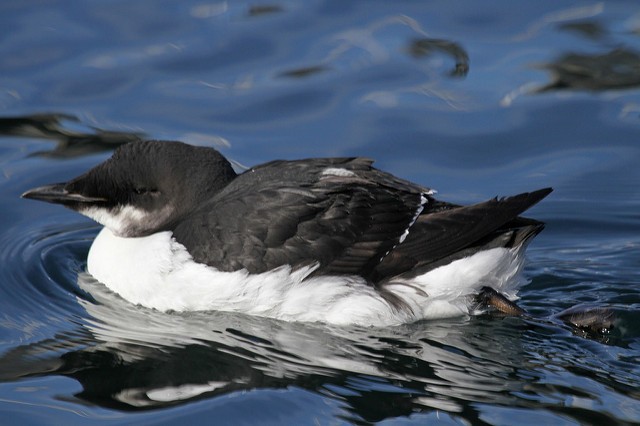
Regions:
[[[385,327],[471,315],[483,289],[515,300],[544,228],[520,215],[551,191],[463,206],[365,157],[236,173],[214,148],[144,140],[22,197],[103,225],[87,271],[129,303]]]

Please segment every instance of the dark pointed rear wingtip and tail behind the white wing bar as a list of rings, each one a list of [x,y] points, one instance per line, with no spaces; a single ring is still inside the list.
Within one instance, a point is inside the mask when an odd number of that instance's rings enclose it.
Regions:
[[[529,207],[546,197],[551,188],[506,198],[494,198],[471,206],[433,202],[425,206],[405,241],[386,256],[376,268],[376,280],[438,266],[441,259],[456,253],[473,254],[494,243],[517,246],[542,229],[542,223],[520,218]],[[518,232],[518,230],[521,230]]]

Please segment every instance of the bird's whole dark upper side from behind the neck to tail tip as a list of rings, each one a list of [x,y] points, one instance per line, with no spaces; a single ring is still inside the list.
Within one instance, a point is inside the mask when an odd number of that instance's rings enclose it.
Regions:
[[[194,260],[222,271],[317,263],[313,275],[376,284],[465,250],[527,240],[542,225],[518,215],[550,191],[456,206],[364,158],[274,161],[239,175],[174,236]]]

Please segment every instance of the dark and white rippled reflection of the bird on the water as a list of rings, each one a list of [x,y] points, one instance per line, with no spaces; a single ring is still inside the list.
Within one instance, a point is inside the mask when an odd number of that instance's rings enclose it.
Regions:
[[[88,314],[82,326],[6,353],[2,380],[65,375],[82,385],[76,398],[120,410],[295,386],[339,399],[368,421],[506,403],[505,389],[520,386],[505,383],[523,356],[518,319],[332,328],[225,312],[161,313],[121,300],[87,274],[79,285],[92,296],[79,298]]]

